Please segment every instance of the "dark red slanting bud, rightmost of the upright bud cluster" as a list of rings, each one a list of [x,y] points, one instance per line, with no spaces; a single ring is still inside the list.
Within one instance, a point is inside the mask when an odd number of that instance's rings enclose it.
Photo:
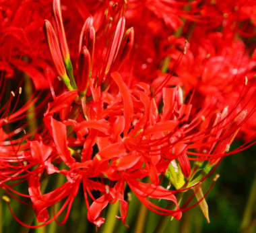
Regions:
[[[112,71],[119,71],[125,59],[127,59],[129,53],[131,52],[131,48],[133,48],[133,41],[134,41],[134,30],[133,28],[129,28],[125,32],[125,35],[123,36],[123,40],[121,42],[121,46],[119,48],[117,57],[113,62],[113,69],[111,68]]]

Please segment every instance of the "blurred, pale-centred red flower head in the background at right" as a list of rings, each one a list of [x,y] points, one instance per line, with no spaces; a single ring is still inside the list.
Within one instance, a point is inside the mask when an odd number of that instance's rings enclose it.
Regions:
[[[245,108],[253,110],[253,104],[249,106],[248,102],[255,90],[255,61],[247,55],[243,42],[225,40],[220,33],[209,34],[199,41],[192,40],[188,44],[187,55],[175,71],[180,78],[172,79],[172,84],[183,85],[186,93],[195,90],[194,100],[202,106],[210,104],[214,96],[218,98],[218,105],[213,108],[227,105],[232,108],[236,104],[234,99],[240,98],[241,104],[247,105]],[[197,69],[191,69],[191,63]],[[249,80],[249,86],[245,84],[245,79]],[[247,138],[254,135],[252,118],[245,123],[242,131],[247,131]]]

